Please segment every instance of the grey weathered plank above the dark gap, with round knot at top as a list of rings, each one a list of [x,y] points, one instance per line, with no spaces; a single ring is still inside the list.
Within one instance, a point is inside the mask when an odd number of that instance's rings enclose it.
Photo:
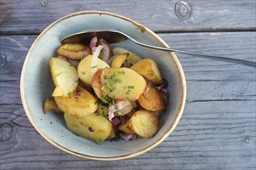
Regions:
[[[9,35],[38,34],[64,15],[81,11],[106,11],[124,15],[157,32],[197,32],[213,30],[255,30],[255,1],[187,1],[190,15],[178,18],[178,1],[1,1],[1,31]],[[71,8],[72,6],[72,8]],[[125,9],[125,10],[124,10]],[[175,12],[175,10],[177,12]],[[186,19],[186,16],[188,16]],[[239,16],[239,18],[237,17]]]

